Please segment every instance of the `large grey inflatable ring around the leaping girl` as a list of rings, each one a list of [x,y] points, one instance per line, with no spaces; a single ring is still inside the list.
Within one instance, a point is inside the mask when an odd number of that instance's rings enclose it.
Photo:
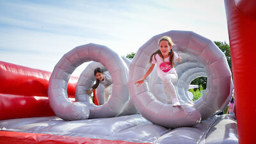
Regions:
[[[164,35],[172,37],[175,44],[174,51],[193,56],[193,59],[196,59],[205,68],[204,70],[202,66],[195,67],[198,64],[191,67],[186,66],[188,70],[181,70],[181,67],[180,70],[177,68],[177,73],[180,76],[180,81],[178,80],[176,83],[178,93],[183,93],[184,88],[187,89],[188,83],[194,78],[205,76],[205,72],[207,74],[207,89],[194,106],[189,102],[182,104],[180,108],[173,108],[160,102],[150,92],[152,88],[148,86],[148,79],[142,86],[136,87],[133,84],[145,74],[150,55],[158,49],[157,40]],[[193,70],[189,70],[191,68]],[[204,120],[216,113],[232,92],[231,72],[223,52],[211,40],[191,31],[168,31],[153,36],[146,44],[142,45],[129,67],[128,85],[132,102],[141,115],[154,124],[170,128],[198,124],[201,116]]]

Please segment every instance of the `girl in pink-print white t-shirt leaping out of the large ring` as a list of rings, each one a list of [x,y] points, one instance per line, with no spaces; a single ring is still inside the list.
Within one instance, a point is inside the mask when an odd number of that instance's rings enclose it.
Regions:
[[[148,68],[147,72],[141,79],[134,81],[134,84],[138,84],[138,86],[140,84],[142,85],[157,63],[157,75],[163,80],[163,90],[164,95],[166,96],[166,101],[169,104],[172,103],[173,107],[177,107],[180,106],[180,102],[177,98],[177,93],[175,92],[173,85],[173,83],[178,79],[178,75],[174,68],[174,60],[180,62],[181,58],[172,50],[172,46],[174,44],[172,42],[172,38],[169,36],[161,37],[158,41],[158,45],[159,49],[150,56],[150,68]]]

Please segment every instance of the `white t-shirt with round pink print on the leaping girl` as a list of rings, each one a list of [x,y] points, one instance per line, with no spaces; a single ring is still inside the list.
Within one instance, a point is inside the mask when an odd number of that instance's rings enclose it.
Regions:
[[[156,60],[155,60],[155,56],[156,56]],[[179,58],[178,54],[173,51],[173,60],[177,60]],[[165,63],[164,63],[165,62]],[[168,58],[164,58],[163,59],[159,56],[159,54],[155,54],[152,57],[152,64],[157,63],[157,75],[163,80],[164,77],[167,74],[171,74],[175,72],[175,68],[171,68],[171,64],[170,64],[170,56]]]

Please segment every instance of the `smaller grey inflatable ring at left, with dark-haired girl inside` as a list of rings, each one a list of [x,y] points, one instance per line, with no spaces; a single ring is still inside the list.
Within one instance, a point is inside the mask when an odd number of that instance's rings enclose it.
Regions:
[[[88,100],[88,95],[85,94],[86,89],[76,92],[76,95],[84,96],[81,96],[78,102],[70,102],[68,100],[68,79],[76,67],[86,61],[98,61],[102,63],[102,65],[108,68],[111,76],[115,76],[112,77],[113,95],[111,95],[106,104],[99,107],[92,107],[89,105],[89,102],[86,102],[86,99]],[[91,77],[85,76],[83,79],[91,81],[86,86],[90,88],[93,83]],[[129,100],[127,80],[128,68],[116,52],[103,45],[81,45],[67,52],[54,67],[49,80],[48,95],[50,106],[57,116],[65,120],[117,116],[122,113],[125,102]],[[92,109],[93,113],[90,113]]]

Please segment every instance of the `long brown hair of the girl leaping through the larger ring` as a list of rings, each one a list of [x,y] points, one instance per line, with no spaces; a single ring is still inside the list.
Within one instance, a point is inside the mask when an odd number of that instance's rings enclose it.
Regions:
[[[163,37],[161,37],[161,38],[158,40],[158,43],[157,43],[157,44],[159,45],[162,40],[166,40],[166,41],[168,42],[168,44],[169,44],[170,47],[172,47],[172,45],[174,45],[173,42],[172,42],[172,38],[170,38],[169,36],[163,36]],[[149,63],[152,62],[152,57],[153,57],[153,56],[154,56],[154,58],[155,58],[155,60],[156,60],[156,54],[159,54],[159,56],[160,56],[160,57],[163,59],[163,61],[164,61],[164,56],[163,56],[163,54],[161,53],[160,49],[157,49],[157,51],[155,51],[155,52],[153,52],[153,53],[151,54],[150,59],[149,59]],[[173,56],[173,55],[174,55],[174,54],[173,54],[173,50],[171,49],[171,51],[169,52],[171,68],[174,67],[174,61],[173,61],[173,60],[174,60],[174,56]]]

